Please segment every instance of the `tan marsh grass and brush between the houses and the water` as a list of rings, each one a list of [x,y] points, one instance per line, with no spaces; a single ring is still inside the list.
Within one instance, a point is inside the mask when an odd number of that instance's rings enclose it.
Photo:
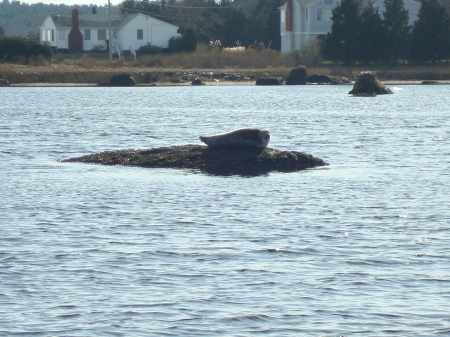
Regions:
[[[203,81],[234,78],[255,80],[263,77],[286,79],[290,70],[305,65],[309,74],[356,79],[361,71],[376,71],[380,80],[450,80],[450,64],[399,64],[345,66],[320,59],[302,60],[291,53],[274,50],[208,49],[200,46],[195,53],[141,55],[108,60],[104,53],[81,55],[54,54],[51,61],[32,59],[29,65],[0,63],[0,74],[11,83],[99,83],[118,73],[131,74],[137,83],[188,82],[195,77]],[[206,75],[209,74],[209,75]]]

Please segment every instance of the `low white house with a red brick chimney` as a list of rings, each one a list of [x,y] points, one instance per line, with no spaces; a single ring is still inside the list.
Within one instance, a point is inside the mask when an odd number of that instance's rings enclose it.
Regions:
[[[40,39],[56,49],[71,52],[107,50],[108,15],[48,15],[40,28]],[[112,50],[138,50],[141,46],[168,47],[178,27],[144,14],[111,15]]]

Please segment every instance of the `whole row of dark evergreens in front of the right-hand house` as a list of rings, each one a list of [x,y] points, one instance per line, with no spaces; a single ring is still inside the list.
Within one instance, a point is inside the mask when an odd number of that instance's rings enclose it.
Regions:
[[[371,2],[342,0],[332,11],[325,58],[347,64],[450,59],[450,15],[438,0],[422,0],[412,26],[403,0],[384,0],[384,7],[381,15]]]

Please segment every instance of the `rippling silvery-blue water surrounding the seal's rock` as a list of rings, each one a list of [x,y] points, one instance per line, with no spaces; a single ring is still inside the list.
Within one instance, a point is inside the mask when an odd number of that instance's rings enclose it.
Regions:
[[[450,334],[450,86],[1,89],[0,336]],[[330,166],[57,162],[244,126]]]

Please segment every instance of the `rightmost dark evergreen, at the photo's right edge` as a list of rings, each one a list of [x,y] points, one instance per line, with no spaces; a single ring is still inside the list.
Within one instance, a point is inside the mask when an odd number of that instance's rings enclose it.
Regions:
[[[423,0],[411,36],[410,58],[416,62],[450,57],[450,18],[437,0]]]

